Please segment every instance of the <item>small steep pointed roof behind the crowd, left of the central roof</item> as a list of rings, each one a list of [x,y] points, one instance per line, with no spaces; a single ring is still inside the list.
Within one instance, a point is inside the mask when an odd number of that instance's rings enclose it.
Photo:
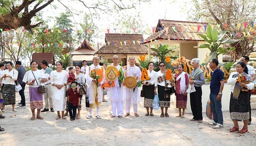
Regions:
[[[69,52],[72,55],[93,55],[95,50],[89,45],[86,39],[76,48],[76,50]]]

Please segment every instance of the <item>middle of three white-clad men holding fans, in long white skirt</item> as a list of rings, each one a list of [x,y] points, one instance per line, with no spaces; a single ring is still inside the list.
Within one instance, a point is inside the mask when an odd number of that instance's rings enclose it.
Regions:
[[[118,65],[119,58],[117,55],[114,55],[113,58],[113,63],[111,66],[115,66],[117,70],[119,70],[122,66]],[[115,86],[110,87],[108,90],[109,94],[109,100],[111,101],[111,110],[112,110],[112,115],[111,117],[116,116],[116,111],[117,111],[117,116],[122,118],[123,117],[123,101],[122,101],[122,96],[123,96],[123,86],[121,84],[121,87],[119,86],[118,78],[114,81]],[[112,84],[111,81],[109,81],[109,84]]]

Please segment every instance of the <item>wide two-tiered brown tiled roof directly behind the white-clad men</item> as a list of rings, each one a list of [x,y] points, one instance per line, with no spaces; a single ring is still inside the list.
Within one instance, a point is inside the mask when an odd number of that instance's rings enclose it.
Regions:
[[[106,44],[95,54],[147,54],[148,47],[140,44],[142,41],[142,34],[105,34]]]

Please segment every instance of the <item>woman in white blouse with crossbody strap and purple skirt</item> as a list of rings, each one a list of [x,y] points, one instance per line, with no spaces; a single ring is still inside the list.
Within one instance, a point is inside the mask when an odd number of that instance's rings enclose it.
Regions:
[[[35,109],[37,109],[36,118],[44,119],[44,117],[40,116],[40,109],[43,109],[42,96],[43,93],[38,93],[38,87],[42,83],[47,82],[48,79],[45,77],[45,73],[42,70],[37,69],[37,62],[31,61],[30,67],[31,70],[27,71],[24,75],[23,82],[29,85],[29,100],[30,100],[30,109],[32,112],[31,120],[35,119]]]

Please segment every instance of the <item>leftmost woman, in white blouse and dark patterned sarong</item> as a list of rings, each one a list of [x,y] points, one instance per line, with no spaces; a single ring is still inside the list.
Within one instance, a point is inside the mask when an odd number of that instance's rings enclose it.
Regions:
[[[5,86],[3,88],[3,112],[5,112],[5,106],[6,105],[12,105],[12,111],[17,111],[14,109],[15,105],[15,81],[18,77],[18,71],[12,68],[12,62],[8,61],[6,63],[7,69],[4,71],[4,75],[1,77],[1,79],[5,79]]]

